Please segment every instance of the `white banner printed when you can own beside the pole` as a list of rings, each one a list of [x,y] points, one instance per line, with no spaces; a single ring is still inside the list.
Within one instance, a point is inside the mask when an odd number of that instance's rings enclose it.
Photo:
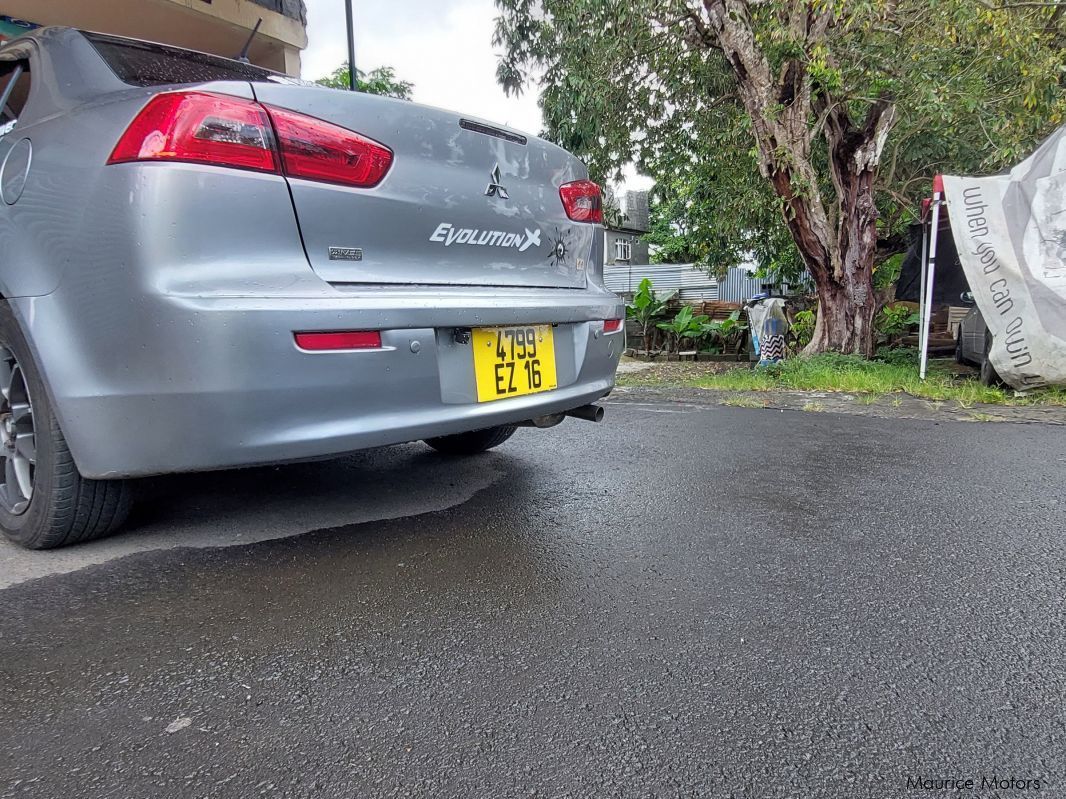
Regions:
[[[1016,389],[1066,384],[1066,128],[1006,175],[943,182],[996,371]]]

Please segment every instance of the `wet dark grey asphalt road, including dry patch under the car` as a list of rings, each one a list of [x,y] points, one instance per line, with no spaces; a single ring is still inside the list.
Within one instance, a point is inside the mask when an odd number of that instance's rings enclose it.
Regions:
[[[0,797],[1066,796],[1066,428],[640,401],[0,548]]]

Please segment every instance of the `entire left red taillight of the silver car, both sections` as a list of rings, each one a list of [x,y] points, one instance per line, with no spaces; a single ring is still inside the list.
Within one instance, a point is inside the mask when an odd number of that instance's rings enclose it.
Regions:
[[[369,189],[392,165],[392,150],[345,128],[207,92],[156,95],[108,159],[191,161],[273,172]]]

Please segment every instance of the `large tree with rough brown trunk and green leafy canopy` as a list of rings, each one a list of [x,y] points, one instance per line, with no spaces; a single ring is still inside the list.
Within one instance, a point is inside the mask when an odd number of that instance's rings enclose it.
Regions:
[[[1066,113],[1055,0],[497,5],[498,79],[542,74],[549,137],[599,178],[635,157],[707,261],[803,264],[807,352],[869,356],[874,267],[933,175],[1001,168]]]

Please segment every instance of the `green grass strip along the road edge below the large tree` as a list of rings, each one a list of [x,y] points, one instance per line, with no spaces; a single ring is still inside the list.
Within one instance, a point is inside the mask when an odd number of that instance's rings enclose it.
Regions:
[[[934,402],[954,401],[963,406],[1066,406],[1066,388],[1044,389],[1016,396],[1008,388],[982,386],[975,379],[956,377],[937,363],[931,364],[926,379],[921,380],[915,363],[863,360],[836,354],[791,358],[765,369],[733,369],[721,374],[702,375],[692,385],[725,391],[784,389],[872,394],[875,397],[904,392]]]

